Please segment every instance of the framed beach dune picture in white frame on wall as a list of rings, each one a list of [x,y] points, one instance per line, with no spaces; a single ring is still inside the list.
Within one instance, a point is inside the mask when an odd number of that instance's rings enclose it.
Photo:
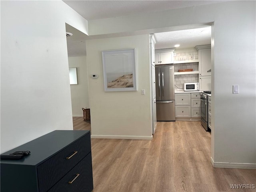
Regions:
[[[105,91],[136,91],[135,48],[102,51]]]

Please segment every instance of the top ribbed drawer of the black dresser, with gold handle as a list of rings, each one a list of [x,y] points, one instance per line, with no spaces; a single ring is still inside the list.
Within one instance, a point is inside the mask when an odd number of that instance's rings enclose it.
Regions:
[[[90,134],[76,140],[37,167],[39,192],[48,191],[91,150]],[[72,156],[73,155],[73,156]],[[70,157],[69,159],[67,159]]]

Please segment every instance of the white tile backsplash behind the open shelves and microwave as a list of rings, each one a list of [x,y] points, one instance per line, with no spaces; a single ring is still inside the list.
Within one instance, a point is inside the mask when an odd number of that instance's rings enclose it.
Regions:
[[[198,62],[174,64],[174,72],[178,72],[179,69],[193,69],[193,71],[198,71]],[[178,87],[175,86],[175,91],[183,90],[184,83],[196,82],[198,82],[198,74],[175,75],[174,84]]]

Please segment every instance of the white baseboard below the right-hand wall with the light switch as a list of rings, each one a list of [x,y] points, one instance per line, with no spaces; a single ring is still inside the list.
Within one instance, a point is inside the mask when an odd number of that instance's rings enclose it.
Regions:
[[[211,157],[211,164],[214,168],[256,169],[256,164],[253,164],[253,163],[214,162],[212,157]]]

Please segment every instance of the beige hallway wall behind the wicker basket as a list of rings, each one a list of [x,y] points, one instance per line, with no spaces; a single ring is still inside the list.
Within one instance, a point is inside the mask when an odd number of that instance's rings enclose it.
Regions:
[[[86,57],[69,57],[68,66],[76,67],[77,85],[70,85],[72,115],[83,117],[82,108],[90,108]]]

